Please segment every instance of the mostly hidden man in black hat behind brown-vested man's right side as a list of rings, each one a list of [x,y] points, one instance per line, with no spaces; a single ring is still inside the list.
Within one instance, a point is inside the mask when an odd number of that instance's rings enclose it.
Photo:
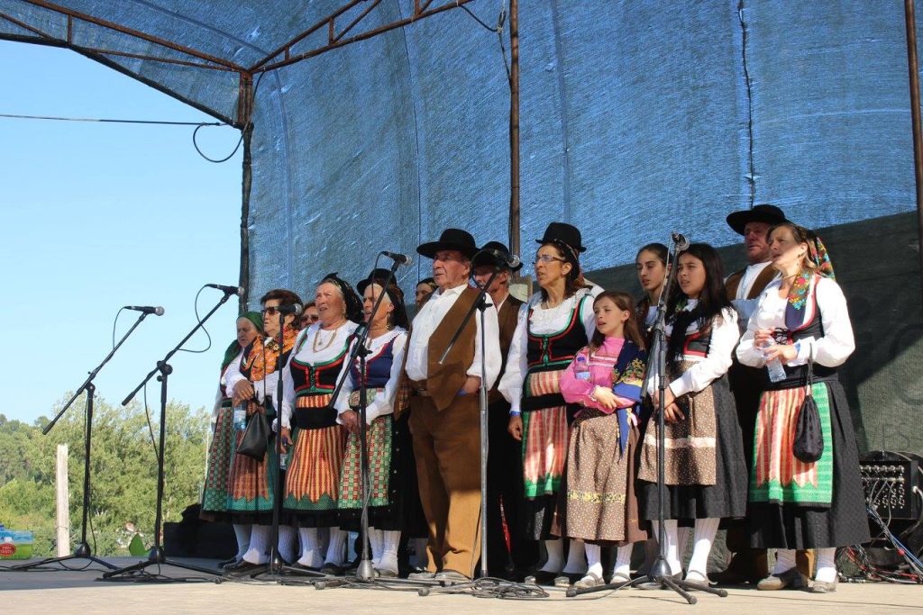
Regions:
[[[510,267],[505,256],[509,249],[501,242],[486,242],[482,252],[473,260],[474,281],[484,287],[497,271],[487,289],[497,308],[499,344],[502,363],[497,383],[506,370],[509,343],[519,322],[522,302],[509,294],[509,282],[522,264]],[[527,541],[516,531],[522,500],[522,455],[520,445],[507,431],[509,402],[497,391],[497,384],[487,396],[490,406],[488,438],[490,453],[487,456],[487,565],[491,576],[509,576],[513,571],[525,571],[538,562],[538,544]],[[509,549],[507,547],[509,536]]]

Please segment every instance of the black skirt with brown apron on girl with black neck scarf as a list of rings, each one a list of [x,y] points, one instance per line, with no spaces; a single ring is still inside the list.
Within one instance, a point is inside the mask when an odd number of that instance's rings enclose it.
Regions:
[[[664,513],[689,521],[747,514],[747,466],[734,397],[722,376],[688,400],[688,416],[665,424]],[[638,472],[641,518],[657,519],[657,423],[652,416],[644,432]]]

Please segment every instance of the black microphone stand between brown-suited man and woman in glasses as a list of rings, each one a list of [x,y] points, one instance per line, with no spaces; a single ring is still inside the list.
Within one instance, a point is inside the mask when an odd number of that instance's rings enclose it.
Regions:
[[[485,252],[484,250],[479,250],[477,254]],[[473,260],[473,259],[472,259]],[[497,273],[500,272],[500,266],[495,260],[494,271],[490,274],[490,278],[487,278],[483,287],[478,287],[480,291],[477,299],[472,303],[471,309],[468,310],[468,313],[465,314],[462,324],[459,325],[456,329],[454,335],[452,335],[449,340],[449,345],[446,347],[445,351],[442,353],[442,356],[439,357],[438,363],[442,365],[446,358],[449,356],[452,348],[455,346],[455,343],[458,341],[459,337],[462,336],[462,331],[468,321],[471,320],[475,310],[481,313],[481,385],[479,390],[479,406],[480,406],[480,435],[481,435],[481,511],[480,519],[478,525],[480,526],[481,531],[481,577],[479,579],[470,581],[468,583],[459,583],[455,585],[446,585],[444,587],[434,588],[432,593],[464,593],[471,592],[477,594],[478,596],[489,596],[494,595],[495,597],[504,597],[507,594],[508,588],[518,588],[522,589],[522,585],[517,585],[509,583],[502,579],[491,578],[487,574],[487,454],[489,452],[489,444],[487,440],[487,374],[485,366],[486,358],[486,329],[485,329],[485,310],[487,309],[486,295],[487,289],[490,288],[490,285],[494,283],[494,278],[497,278]],[[528,591],[528,590],[526,590]],[[423,587],[417,590],[420,596],[428,596],[431,593],[429,587]]]

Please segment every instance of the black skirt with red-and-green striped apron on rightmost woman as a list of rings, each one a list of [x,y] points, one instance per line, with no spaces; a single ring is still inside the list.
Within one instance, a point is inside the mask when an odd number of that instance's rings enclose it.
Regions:
[[[822,549],[869,540],[856,434],[843,386],[816,382],[824,450],[806,464],[792,454],[804,386],[763,392],[749,485],[752,547]]]

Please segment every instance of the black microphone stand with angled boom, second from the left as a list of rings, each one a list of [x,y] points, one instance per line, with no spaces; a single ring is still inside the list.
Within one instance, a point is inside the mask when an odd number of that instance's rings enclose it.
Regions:
[[[148,384],[148,381],[154,377],[154,374],[160,373],[160,375],[157,376],[157,380],[161,383],[161,426],[160,426],[160,434],[159,434],[160,435],[160,445],[157,449],[157,512],[154,515],[154,546],[150,548],[147,561],[138,562],[136,564],[125,566],[123,568],[119,568],[117,570],[110,571],[108,573],[103,573],[102,577],[100,578],[101,581],[137,581],[139,583],[160,583],[162,581],[192,580],[188,577],[172,578],[172,577],[167,577],[161,574],[159,570],[159,567],[161,564],[168,564],[171,566],[175,566],[176,568],[185,568],[186,570],[192,570],[197,573],[213,574],[215,576],[221,575],[221,573],[219,573],[218,571],[211,570],[209,568],[202,568],[199,566],[193,566],[191,564],[187,564],[183,562],[176,562],[174,560],[168,560],[165,553],[163,552],[163,547],[161,545],[161,526],[162,526],[162,509],[163,509],[163,459],[164,459],[163,451],[164,451],[164,444],[166,442],[166,429],[167,429],[167,378],[171,373],[173,373],[173,367],[170,365],[169,361],[174,356],[174,354],[179,352],[179,349],[183,348],[183,345],[186,344],[187,341],[189,341],[190,337],[193,337],[194,335],[196,335],[196,332],[198,332],[198,330],[202,328],[202,325],[205,325],[205,322],[209,320],[211,315],[217,312],[218,308],[220,308],[224,303],[228,301],[228,299],[231,298],[231,294],[232,294],[231,292],[228,292],[227,290],[225,290],[224,296],[222,297],[221,301],[217,302],[215,306],[211,308],[210,312],[205,314],[205,317],[198,321],[196,326],[194,326],[192,330],[188,334],[186,334],[186,337],[183,337],[183,339],[180,340],[180,342],[174,347],[174,349],[170,350],[170,352],[168,352],[166,356],[163,357],[162,361],[157,361],[157,367],[151,370],[150,373],[148,373],[148,375],[144,377],[144,380],[142,380],[141,383],[135,387],[135,390],[129,393],[128,396],[126,396],[126,398],[122,400],[122,405],[127,406],[128,402],[130,402],[134,396],[138,395],[138,391],[141,390],[141,387],[143,387],[145,384]],[[148,566],[158,566],[158,573],[157,574],[148,573],[145,570]]]

